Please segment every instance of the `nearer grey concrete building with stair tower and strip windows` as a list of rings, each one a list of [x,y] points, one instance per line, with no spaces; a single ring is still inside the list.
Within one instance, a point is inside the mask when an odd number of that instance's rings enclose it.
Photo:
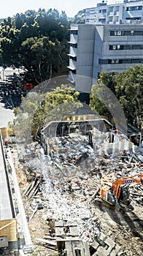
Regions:
[[[101,71],[143,64],[142,24],[71,24],[69,83],[90,93]]]

